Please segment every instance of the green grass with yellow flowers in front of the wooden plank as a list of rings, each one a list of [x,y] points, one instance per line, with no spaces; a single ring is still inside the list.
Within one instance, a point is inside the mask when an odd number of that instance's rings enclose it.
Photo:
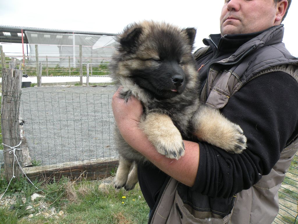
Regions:
[[[3,171],[1,171],[3,175]],[[7,181],[0,177],[0,194],[7,187]],[[14,209],[0,207],[1,224],[41,224],[41,223],[100,223],[100,224],[145,224],[148,222],[149,208],[145,202],[139,186],[132,191],[116,190],[113,185],[104,185],[100,180],[71,182],[67,178],[52,183],[34,182],[44,191],[35,189],[25,179],[14,182],[5,195],[26,197],[28,202],[21,199],[14,205]],[[32,212],[26,211],[33,193],[43,194],[44,200],[56,211],[62,210],[63,217],[27,217]],[[40,202],[40,201],[39,201]],[[36,214],[35,210],[32,214]]]

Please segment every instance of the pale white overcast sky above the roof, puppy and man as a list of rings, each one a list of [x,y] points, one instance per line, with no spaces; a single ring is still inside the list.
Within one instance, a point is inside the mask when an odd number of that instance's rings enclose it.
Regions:
[[[0,0],[0,25],[119,33],[132,22],[165,21],[181,28],[195,27],[195,47],[198,48],[204,46],[202,39],[209,34],[220,33],[219,16],[223,4],[224,0]],[[283,21],[283,42],[290,53],[298,57],[297,12],[298,2],[293,1]],[[2,45],[4,52],[19,48]]]

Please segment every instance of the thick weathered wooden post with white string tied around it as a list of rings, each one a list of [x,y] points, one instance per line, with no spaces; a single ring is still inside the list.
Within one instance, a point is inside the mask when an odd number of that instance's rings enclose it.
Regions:
[[[22,71],[18,69],[2,69],[2,98],[1,98],[1,134],[4,151],[10,147],[17,146],[21,142],[19,108],[21,98]],[[7,146],[10,147],[7,147]],[[16,147],[21,148],[21,146]],[[15,160],[13,168],[14,154],[4,152],[4,171],[7,181],[13,177],[21,177],[21,168]],[[22,165],[22,151],[15,150],[15,155]]]

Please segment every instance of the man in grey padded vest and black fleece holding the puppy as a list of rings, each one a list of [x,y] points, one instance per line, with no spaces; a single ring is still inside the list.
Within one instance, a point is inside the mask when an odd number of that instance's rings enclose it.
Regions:
[[[280,25],[290,4],[226,0],[221,34],[204,39],[207,47],[194,54],[203,83],[201,102],[240,125],[248,139],[242,154],[184,141],[183,157],[165,158],[138,128],[140,102],[132,98],[125,104],[118,92],[114,95],[120,133],[157,167],[138,167],[152,211],[149,223],[273,222],[277,191],[298,142],[298,60],[285,49]]]

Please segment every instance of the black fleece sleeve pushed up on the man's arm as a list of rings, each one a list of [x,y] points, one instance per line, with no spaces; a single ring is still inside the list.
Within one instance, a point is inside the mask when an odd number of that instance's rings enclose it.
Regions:
[[[272,72],[249,81],[221,111],[247,137],[242,154],[200,144],[197,179],[192,190],[211,197],[231,197],[248,189],[278,161],[298,131],[298,84],[286,73]]]

